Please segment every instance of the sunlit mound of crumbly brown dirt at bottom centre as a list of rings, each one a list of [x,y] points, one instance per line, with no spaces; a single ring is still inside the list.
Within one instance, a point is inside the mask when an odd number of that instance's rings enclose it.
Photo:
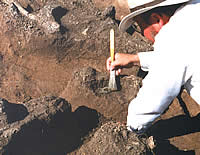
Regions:
[[[77,154],[81,153],[143,155],[150,153],[150,149],[147,138],[127,131],[126,126],[120,123],[109,121],[102,125],[91,140],[77,151]]]

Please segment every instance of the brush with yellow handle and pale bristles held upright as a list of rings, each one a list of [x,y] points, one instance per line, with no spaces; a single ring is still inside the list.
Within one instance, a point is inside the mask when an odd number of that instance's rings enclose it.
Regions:
[[[114,30],[111,29],[110,30],[110,56],[111,56],[111,62],[114,61],[114,56],[115,56],[115,49],[114,49]],[[110,79],[109,79],[109,85],[108,88],[111,91],[115,91],[117,90],[117,83],[116,83],[116,72],[115,70],[110,70]]]

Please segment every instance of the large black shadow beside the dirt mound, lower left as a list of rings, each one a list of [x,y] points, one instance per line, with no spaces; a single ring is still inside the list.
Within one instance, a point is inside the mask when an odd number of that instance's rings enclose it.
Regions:
[[[81,106],[75,112],[56,114],[50,122],[35,119],[12,137],[3,155],[65,155],[82,144],[99,117],[96,110]]]

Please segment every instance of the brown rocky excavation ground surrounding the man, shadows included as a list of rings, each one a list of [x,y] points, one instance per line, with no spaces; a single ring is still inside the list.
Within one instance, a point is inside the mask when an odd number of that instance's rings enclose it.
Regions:
[[[128,103],[146,73],[125,70],[119,91],[105,91],[109,31],[117,52],[152,45],[131,29],[119,32],[124,10],[115,1],[19,0],[37,20],[8,2],[0,1],[0,153],[200,154],[200,108],[184,90],[147,137],[126,130]]]

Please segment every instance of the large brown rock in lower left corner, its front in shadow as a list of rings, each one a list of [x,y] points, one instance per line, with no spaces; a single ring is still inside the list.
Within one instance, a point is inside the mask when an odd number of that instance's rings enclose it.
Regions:
[[[72,117],[71,105],[62,98],[42,97],[23,104],[1,99],[0,112],[2,154],[38,154],[42,151],[54,152],[57,148],[63,151],[63,141],[65,150],[79,144],[78,127]],[[40,147],[42,149],[37,152]]]

